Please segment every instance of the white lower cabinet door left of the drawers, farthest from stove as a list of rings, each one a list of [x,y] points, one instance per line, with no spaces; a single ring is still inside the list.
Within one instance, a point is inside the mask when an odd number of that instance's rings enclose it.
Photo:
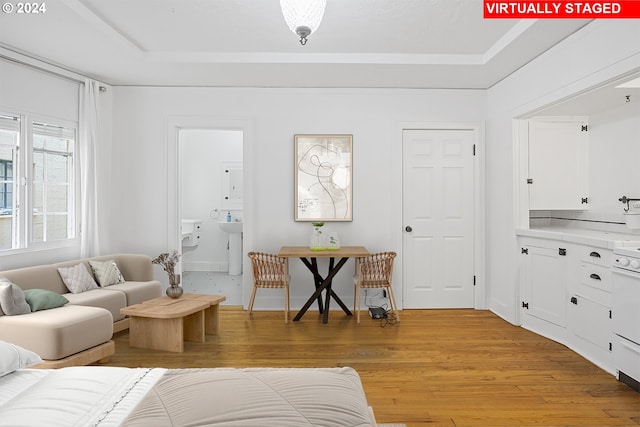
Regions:
[[[522,315],[566,326],[566,244],[526,238],[521,239],[520,252]]]

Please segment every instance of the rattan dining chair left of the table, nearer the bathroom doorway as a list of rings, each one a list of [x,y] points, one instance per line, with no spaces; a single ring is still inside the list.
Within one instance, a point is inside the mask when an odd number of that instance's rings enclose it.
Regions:
[[[289,264],[288,258],[263,252],[249,252],[253,270],[253,291],[249,300],[249,315],[253,311],[258,288],[284,289],[284,323],[289,322]]]

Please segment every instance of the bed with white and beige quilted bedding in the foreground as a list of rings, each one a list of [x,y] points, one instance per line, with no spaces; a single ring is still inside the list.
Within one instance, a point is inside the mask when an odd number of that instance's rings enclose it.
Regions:
[[[0,376],[2,427],[375,426],[351,368],[20,368]]]

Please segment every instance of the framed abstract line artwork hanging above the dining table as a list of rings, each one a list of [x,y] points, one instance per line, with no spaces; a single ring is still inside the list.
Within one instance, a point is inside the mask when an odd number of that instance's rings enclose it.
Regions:
[[[294,136],[295,220],[353,220],[353,135]]]

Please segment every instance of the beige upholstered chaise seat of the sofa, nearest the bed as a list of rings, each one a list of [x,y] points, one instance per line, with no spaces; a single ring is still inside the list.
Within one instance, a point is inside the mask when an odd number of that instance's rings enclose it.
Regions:
[[[103,344],[113,335],[113,317],[103,308],[66,305],[26,316],[0,317],[0,339],[58,360]]]

